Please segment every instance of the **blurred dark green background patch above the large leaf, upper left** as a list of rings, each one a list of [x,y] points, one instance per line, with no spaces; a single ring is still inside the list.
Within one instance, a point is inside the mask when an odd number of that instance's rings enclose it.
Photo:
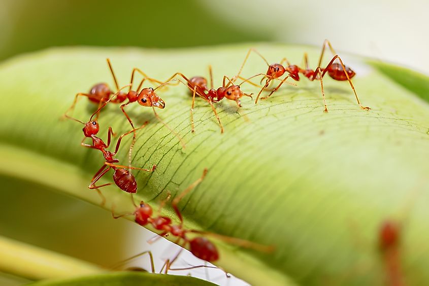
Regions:
[[[0,59],[52,46],[175,48],[267,41],[204,1],[1,0]],[[240,13],[240,11],[237,11]]]

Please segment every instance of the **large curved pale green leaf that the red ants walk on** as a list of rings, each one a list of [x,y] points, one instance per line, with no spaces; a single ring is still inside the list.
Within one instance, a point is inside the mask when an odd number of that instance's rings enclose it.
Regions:
[[[81,125],[58,118],[77,92],[98,82],[112,85],[105,58],[112,59],[122,86],[134,66],[164,80],[176,71],[207,76],[208,64],[219,85],[223,75],[237,72],[251,46],[270,62],[287,56],[300,63],[308,52],[314,64],[319,53],[318,48],[261,44],[168,51],[69,48],[5,62],[0,67],[5,119],[0,122],[0,172],[100,204],[86,186],[103,164],[102,156],[79,146]],[[157,205],[207,167],[204,182],[179,205],[185,225],[274,245],[275,251],[266,254],[216,240],[221,257],[216,264],[252,284],[382,283],[386,271],[377,248],[378,228],[391,217],[402,221],[406,213],[404,276],[409,284],[427,284],[429,256],[422,246],[429,237],[429,105],[364,60],[343,59],[358,68],[353,83],[371,111],[358,107],[347,82],[325,78],[329,113],[323,113],[319,83],[302,79],[298,87],[284,86],[257,105],[248,98],[239,110],[234,102],[217,104],[224,134],[210,106],[196,100],[192,134],[188,92],[172,86],[159,90],[167,106],[158,114],[179,131],[186,142],[182,150],[150,109],[130,107],[136,126],[150,120],[138,133],[133,165],[157,165],[153,173],[134,172],[136,197]],[[252,56],[244,76],[266,68]],[[257,92],[251,86],[243,89]],[[86,120],[93,109],[81,100],[75,116]],[[100,125],[102,138],[108,126],[117,134],[130,129],[115,105],[102,113]],[[124,163],[130,139],[118,155]],[[111,176],[103,182],[112,182]],[[106,187],[103,193],[108,210],[112,204],[117,212],[133,210],[129,195],[117,188]],[[163,213],[173,215],[168,206]]]

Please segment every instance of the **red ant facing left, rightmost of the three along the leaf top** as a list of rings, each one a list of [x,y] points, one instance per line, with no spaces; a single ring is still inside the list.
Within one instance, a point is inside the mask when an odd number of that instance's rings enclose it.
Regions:
[[[324,53],[326,45],[329,47],[329,49],[333,53],[334,57],[326,65],[325,68],[322,68],[320,66],[320,64],[322,62],[323,53]],[[241,65],[241,68],[240,68],[238,74],[233,77],[233,81],[236,80],[237,78],[241,78],[240,77],[241,71],[242,71],[242,69],[244,67],[244,64],[246,63],[246,61],[247,61],[247,59],[248,59],[248,57],[250,55],[250,52],[252,52],[252,51],[255,52],[257,55],[259,55],[263,59],[263,61],[265,61],[267,63],[267,65],[268,65],[268,70],[267,70],[266,74],[257,74],[255,76],[253,76],[253,77],[257,77],[257,76],[262,75],[263,78],[262,78],[261,82],[263,81],[263,79],[267,78],[265,85],[262,87],[262,89],[259,91],[258,95],[256,96],[255,103],[258,102],[260,94],[262,93],[263,90],[265,90],[269,86],[269,84],[271,83],[272,80],[279,79],[281,76],[284,75],[284,73],[287,72],[288,75],[283,80],[281,80],[280,84],[276,88],[274,88],[267,97],[262,97],[262,99],[270,97],[275,91],[277,91],[280,88],[280,86],[289,77],[292,78],[295,81],[299,81],[300,80],[300,75],[299,74],[303,74],[310,81],[314,81],[316,79],[320,80],[320,87],[321,87],[323,102],[324,102],[324,106],[325,106],[324,112],[327,112],[327,105],[326,105],[326,99],[325,99],[325,94],[324,94],[324,90],[323,90],[323,81],[322,81],[323,76],[327,73],[329,75],[329,77],[331,77],[332,79],[334,79],[336,81],[348,81],[349,84],[350,84],[350,87],[352,88],[352,90],[354,92],[354,95],[356,97],[357,104],[359,104],[360,108],[363,109],[363,110],[370,110],[369,107],[362,106],[360,104],[359,98],[357,97],[356,90],[355,90],[355,88],[353,86],[353,83],[350,80],[351,78],[354,77],[355,72],[350,67],[344,65],[344,63],[341,60],[340,56],[334,51],[334,49],[332,48],[331,43],[329,43],[328,40],[325,40],[323,42],[322,52],[320,54],[319,63],[318,63],[318,66],[316,67],[315,70],[309,68],[308,58],[307,58],[307,54],[306,53],[304,54],[305,68],[301,68],[298,65],[291,65],[290,62],[286,58],[283,58],[280,63],[269,64],[268,61],[267,61],[267,59],[265,57],[263,57],[257,50],[250,49],[247,52],[247,55],[246,55],[246,57],[245,57],[245,59],[243,61],[243,64]],[[336,59],[338,59],[340,61],[340,63],[334,62]],[[287,66],[283,66],[283,62],[286,62]]]

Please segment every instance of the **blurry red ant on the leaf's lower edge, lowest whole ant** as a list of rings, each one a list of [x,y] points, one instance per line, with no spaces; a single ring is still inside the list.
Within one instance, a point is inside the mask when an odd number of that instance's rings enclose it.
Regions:
[[[189,244],[190,252],[197,258],[203,259],[208,262],[216,261],[219,259],[219,253],[217,251],[216,246],[210,240],[208,240],[203,236],[197,236],[192,239],[189,239],[187,237],[188,233],[198,233],[198,234],[208,234],[208,233],[203,231],[184,229],[183,218],[177,206],[179,201],[187,193],[189,193],[192,189],[194,189],[198,184],[200,184],[204,180],[204,177],[206,176],[206,174],[207,174],[207,169],[204,169],[203,175],[173,200],[172,202],[173,209],[175,210],[176,215],[180,220],[180,224],[178,225],[172,224],[172,220],[169,217],[160,216],[160,215],[152,216],[152,213],[153,213],[152,207],[149,204],[145,203],[144,201],[141,201],[140,205],[137,206],[135,205],[133,200],[133,204],[136,207],[136,210],[133,213],[125,213],[124,215],[115,216],[112,210],[112,216],[114,219],[118,219],[124,216],[133,215],[135,216],[135,222],[138,223],[139,225],[144,227],[148,224],[151,224],[153,228],[161,231],[161,234],[159,234],[160,236],[167,236],[168,234],[172,234],[173,236],[177,237],[177,240],[176,240],[177,244],[179,244],[179,242],[183,240],[183,243],[181,244],[182,247],[185,247],[187,244]],[[158,211],[160,211],[160,209],[162,208],[163,203],[161,203]],[[223,239],[227,242],[239,244],[242,246],[253,247],[255,249],[259,249],[262,251],[271,250],[271,247],[259,245],[250,241],[239,239],[239,238],[225,237],[223,235],[213,234],[213,233],[211,233],[211,235],[219,239]],[[137,256],[134,256],[133,258]],[[169,265],[171,265],[171,263],[169,264],[169,262],[167,262],[167,268],[169,268]]]

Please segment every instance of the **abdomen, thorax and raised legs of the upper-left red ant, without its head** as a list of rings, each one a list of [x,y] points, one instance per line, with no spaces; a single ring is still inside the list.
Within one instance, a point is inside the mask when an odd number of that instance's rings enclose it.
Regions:
[[[99,111],[101,110],[100,106],[103,103],[106,103],[108,101],[110,101],[112,103],[122,103],[126,99],[128,99],[129,101],[136,101],[137,100],[137,92],[132,91],[131,86],[129,87],[129,90],[127,93],[120,92],[121,89],[119,89],[118,81],[116,80],[116,76],[115,76],[115,73],[113,72],[112,64],[110,63],[109,58],[107,59],[107,64],[109,65],[109,69],[110,69],[110,72],[112,74],[113,81],[115,82],[115,86],[116,86],[115,95],[110,97],[112,94],[114,94],[114,92],[109,88],[108,84],[106,84],[106,83],[96,84],[90,89],[89,93],[82,93],[82,92],[77,93],[75,95],[75,100],[73,101],[73,103],[69,107],[69,109],[64,113],[63,117],[69,117],[68,113],[70,111],[74,110],[75,105],[79,99],[79,96],[86,96],[86,97],[88,97],[88,99],[91,102],[98,103]],[[140,89],[140,87],[143,85],[145,80],[148,80],[152,83],[162,84],[161,81],[158,81],[158,80],[155,80],[153,78],[148,77],[141,69],[139,69],[137,67],[133,68],[133,71],[131,72],[131,84],[133,83],[134,74],[136,71],[138,71],[144,77],[143,80],[140,82],[138,89]],[[98,114],[97,114],[97,116],[98,116]],[[133,129],[134,129],[134,126],[133,126]]]

